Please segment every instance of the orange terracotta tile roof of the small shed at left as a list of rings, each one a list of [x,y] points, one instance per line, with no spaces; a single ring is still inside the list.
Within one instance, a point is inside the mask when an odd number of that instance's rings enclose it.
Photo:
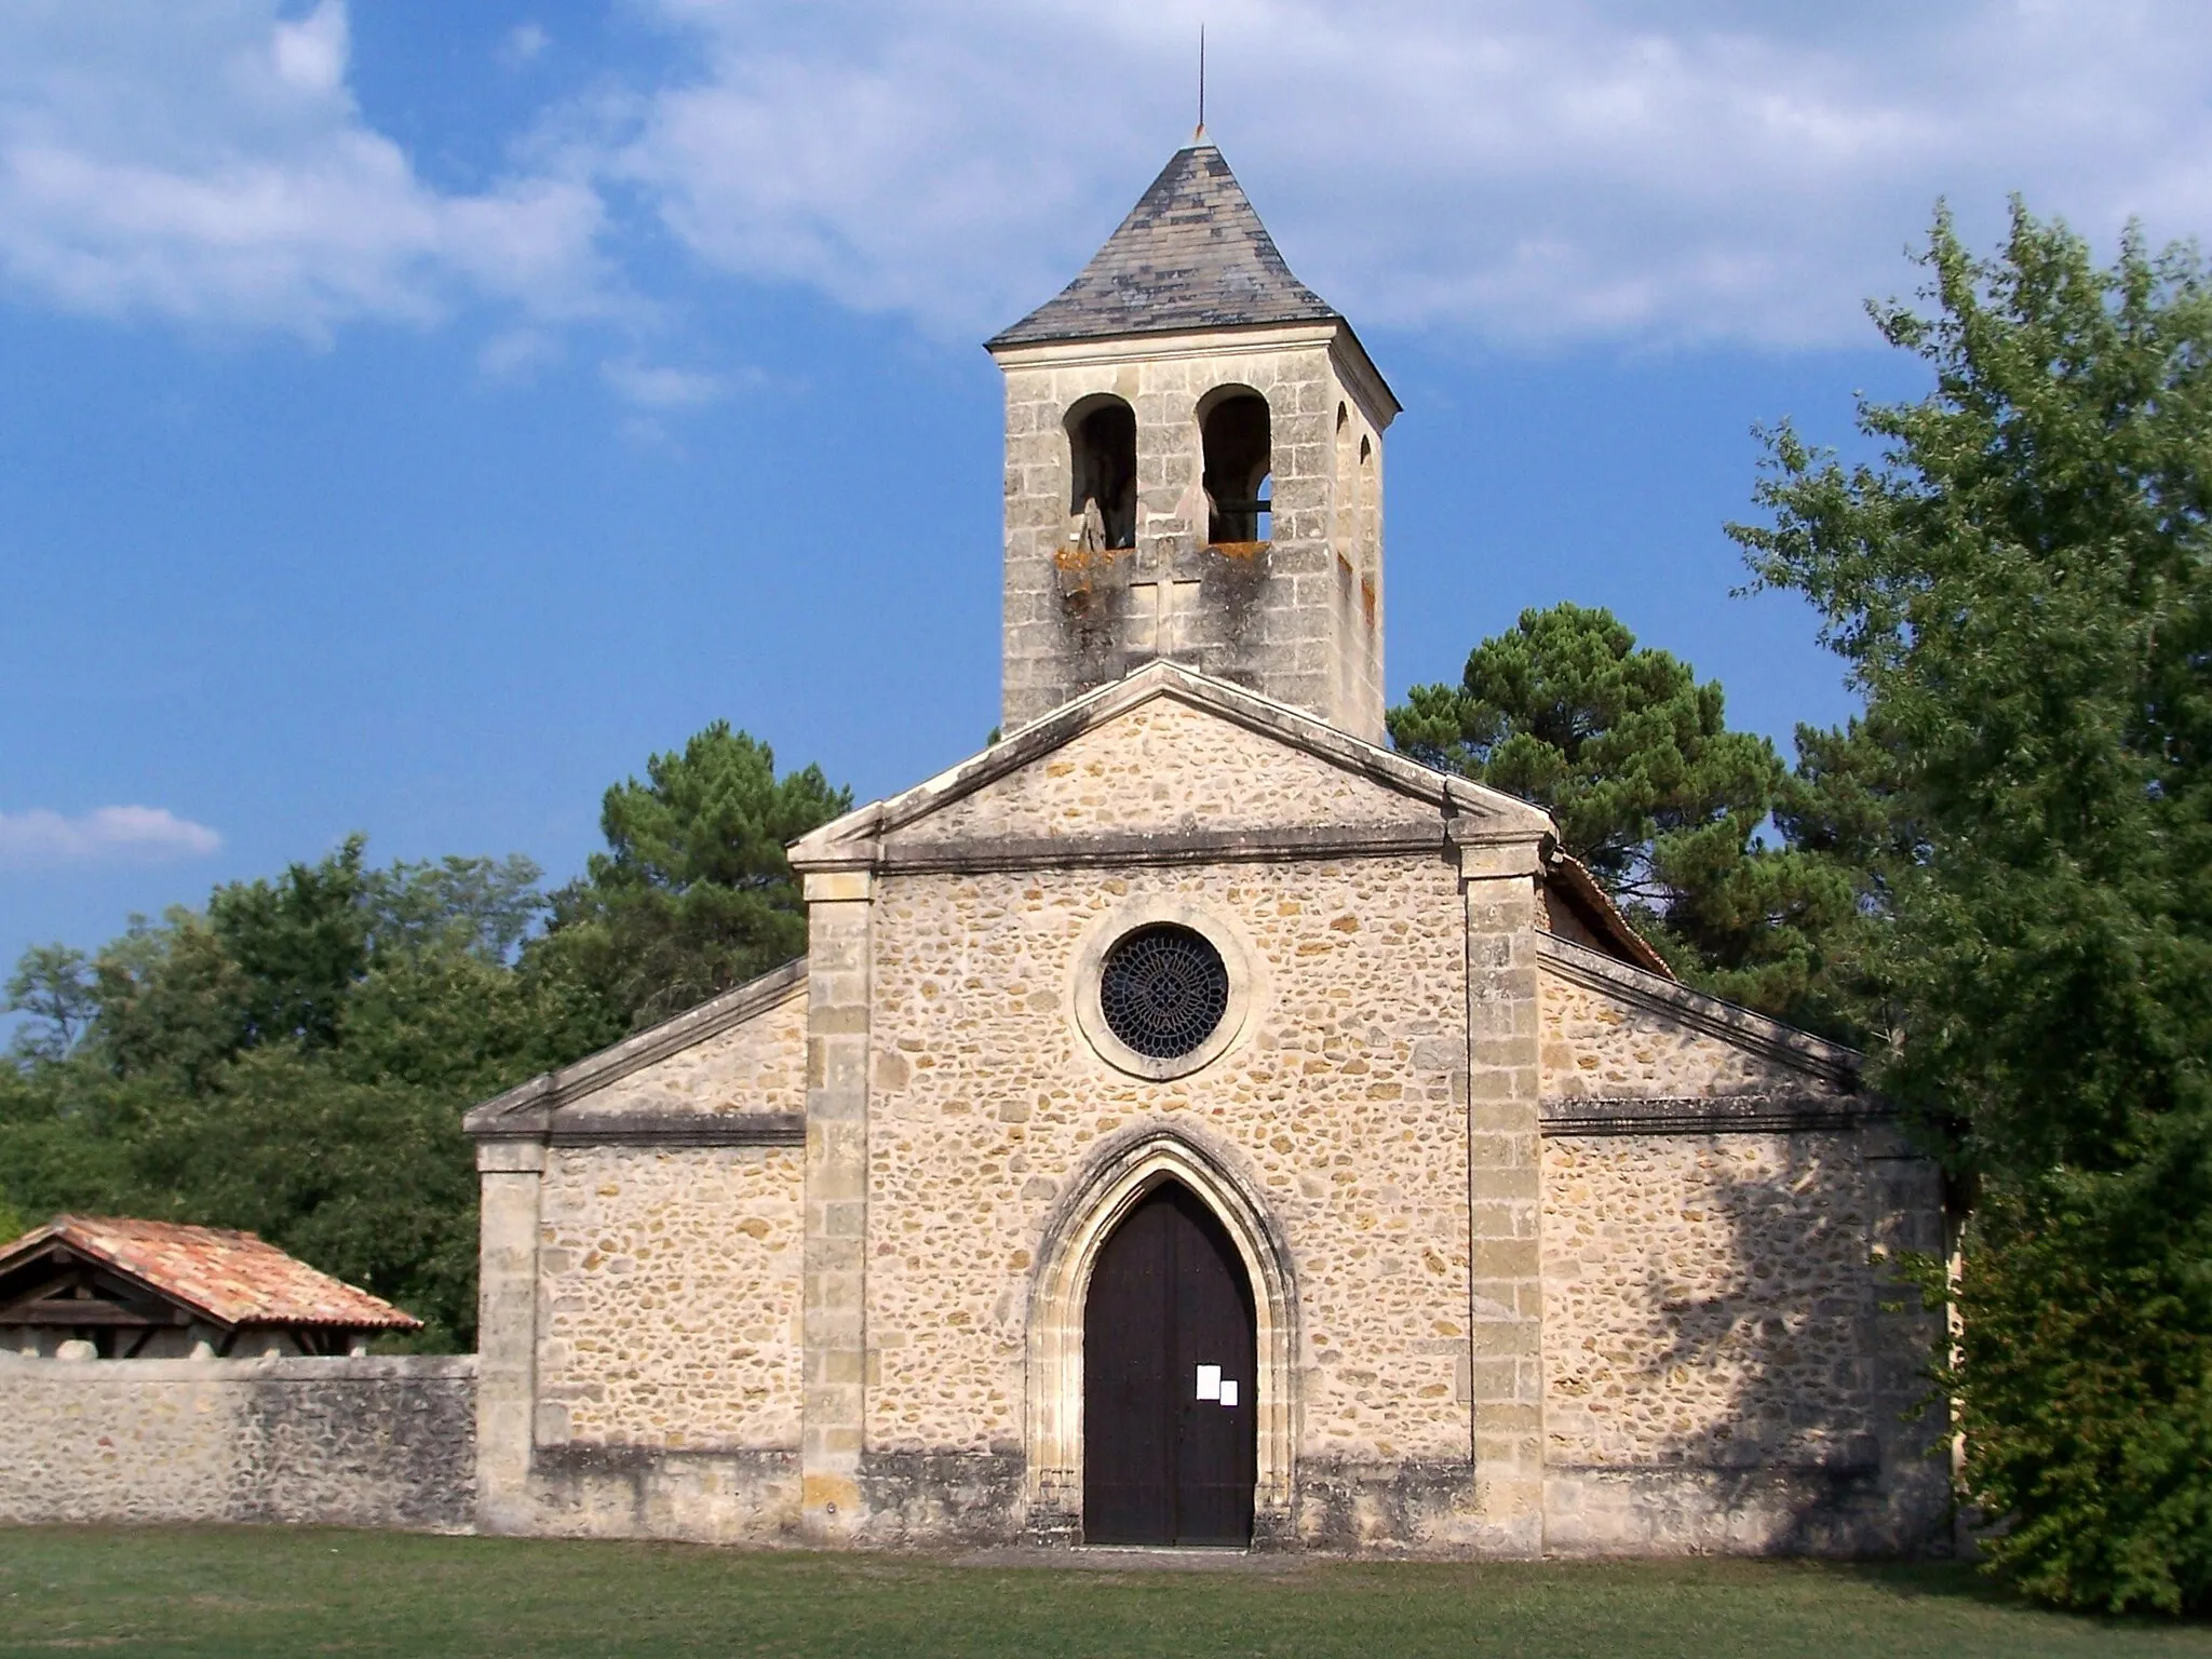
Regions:
[[[276,1245],[228,1228],[181,1221],[64,1214],[0,1248],[0,1270],[51,1243],[66,1243],[217,1325],[336,1325],[420,1329],[422,1321],[380,1296],[316,1272]]]

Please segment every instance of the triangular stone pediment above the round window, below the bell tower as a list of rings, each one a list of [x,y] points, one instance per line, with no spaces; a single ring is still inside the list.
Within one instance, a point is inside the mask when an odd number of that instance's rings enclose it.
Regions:
[[[792,847],[799,869],[867,867],[920,845],[1265,834],[1316,854],[1447,821],[1528,841],[1553,834],[1524,801],[1486,790],[1270,697],[1152,661],[905,794]]]

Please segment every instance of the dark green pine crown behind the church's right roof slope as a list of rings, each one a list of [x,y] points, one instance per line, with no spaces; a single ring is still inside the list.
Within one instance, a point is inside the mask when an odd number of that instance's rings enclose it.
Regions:
[[[1832,1026],[1825,951],[1856,918],[1847,863],[1774,847],[1763,825],[1818,814],[1774,743],[1728,730],[1719,681],[1637,646],[1610,613],[1524,611],[1469,653],[1458,686],[1389,710],[1409,754],[1546,807],[1559,838],[1679,973]]]

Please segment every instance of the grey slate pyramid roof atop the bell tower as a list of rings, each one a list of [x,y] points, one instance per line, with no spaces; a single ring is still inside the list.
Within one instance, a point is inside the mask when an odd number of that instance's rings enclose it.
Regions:
[[[1075,281],[989,345],[1325,321],[1338,312],[1290,274],[1221,150],[1190,144]]]

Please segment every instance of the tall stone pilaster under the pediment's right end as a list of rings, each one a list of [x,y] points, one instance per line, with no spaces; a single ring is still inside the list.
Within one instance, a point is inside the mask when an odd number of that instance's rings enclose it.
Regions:
[[[1544,1548],[1544,1166],[1537,1128],[1542,843],[1453,823],[1467,902],[1471,1436],[1480,1544]]]

